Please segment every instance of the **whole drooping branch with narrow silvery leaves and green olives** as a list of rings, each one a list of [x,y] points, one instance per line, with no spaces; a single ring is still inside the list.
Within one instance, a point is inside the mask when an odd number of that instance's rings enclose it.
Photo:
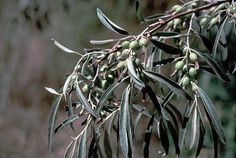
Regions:
[[[225,144],[225,136],[217,111],[198,79],[207,72],[230,82],[229,74],[235,69],[230,41],[236,35],[236,5],[231,0],[190,1],[147,17],[141,13],[139,0],[135,7],[137,17],[146,25],[140,34],[130,35],[97,9],[100,21],[124,37],[91,40],[96,47],[84,49],[84,53],[53,40],[63,51],[77,54],[79,60],[61,90],[46,87],[55,95],[49,148],[54,133],[67,125],[74,129],[74,122],[82,120],[83,129],[72,138],[65,157],[112,157],[114,153],[132,157],[135,133],[145,117],[149,122],[143,157],[149,157],[153,134],[162,145],[157,149],[160,155],[167,155],[173,143],[176,155],[186,150],[185,145],[196,150],[197,157],[208,124],[217,157],[218,144]],[[185,106],[184,112],[172,102],[177,99]],[[56,126],[62,103],[68,117]],[[111,141],[117,143],[116,148]]]

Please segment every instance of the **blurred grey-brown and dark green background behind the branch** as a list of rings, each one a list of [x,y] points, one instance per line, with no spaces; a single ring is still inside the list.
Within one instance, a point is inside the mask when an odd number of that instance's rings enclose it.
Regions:
[[[144,13],[163,12],[173,4],[174,1],[166,0],[145,1]],[[65,79],[63,74],[69,73],[77,61],[76,56],[65,55],[56,48],[51,38],[79,51],[91,47],[90,39],[111,37],[111,32],[96,17],[97,7],[131,33],[142,28],[131,0],[0,1],[1,158],[50,157],[47,122],[52,98],[43,87],[60,87]],[[204,75],[200,82],[210,97],[215,98],[222,118],[228,143],[221,156],[233,158],[236,148],[235,81],[226,85]],[[59,115],[59,120],[63,115]],[[65,130],[55,136],[53,157],[62,157],[70,141],[66,133]],[[205,149],[202,157],[211,157],[209,154]]]

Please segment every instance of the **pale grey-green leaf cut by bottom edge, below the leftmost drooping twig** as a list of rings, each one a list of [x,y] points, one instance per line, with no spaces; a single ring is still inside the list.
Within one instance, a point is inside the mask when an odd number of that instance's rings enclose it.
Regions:
[[[78,149],[78,158],[86,158],[87,153],[87,128],[84,129],[83,134],[81,135]]]

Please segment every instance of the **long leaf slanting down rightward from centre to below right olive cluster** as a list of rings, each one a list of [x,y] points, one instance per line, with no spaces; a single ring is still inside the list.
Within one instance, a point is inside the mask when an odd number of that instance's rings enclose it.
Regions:
[[[177,95],[183,96],[188,100],[191,100],[191,96],[177,83],[175,83],[174,81],[170,80],[169,78],[167,78],[164,75],[158,74],[156,72],[152,72],[152,71],[143,71],[145,75],[147,75],[148,77],[161,82],[163,84],[165,84],[167,87],[169,87],[174,93],[176,93]]]

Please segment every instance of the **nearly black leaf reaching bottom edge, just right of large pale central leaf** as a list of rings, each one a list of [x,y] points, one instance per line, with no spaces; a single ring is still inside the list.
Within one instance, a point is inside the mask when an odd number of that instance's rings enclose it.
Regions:
[[[152,117],[151,117],[151,119],[150,119],[150,121],[148,123],[147,129],[145,131],[144,149],[143,149],[143,157],[144,158],[149,158],[149,145],[150,145],[150,142],[151,142],[154,116],[155,116],[155,113],[152,114]]]

